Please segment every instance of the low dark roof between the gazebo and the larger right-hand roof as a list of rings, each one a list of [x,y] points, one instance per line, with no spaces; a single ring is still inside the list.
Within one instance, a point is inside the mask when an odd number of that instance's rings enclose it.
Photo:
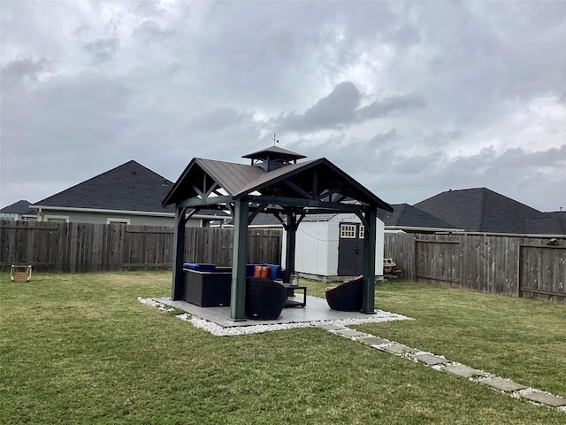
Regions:
[[[447,221],[440,220],[432,214],[414,208],[409,204],[396,204],[393,213],[379,210],[378,217],[386,227],[391,228],[438,228],[439,230],[456,229]]]

